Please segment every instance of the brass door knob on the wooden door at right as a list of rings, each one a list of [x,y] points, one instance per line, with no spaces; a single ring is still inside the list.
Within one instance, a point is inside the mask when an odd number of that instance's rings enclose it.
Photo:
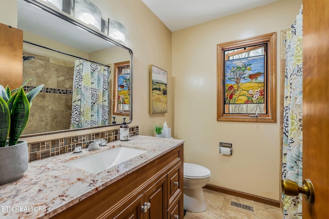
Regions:
[[[306,201],[309,204],[313,204],[315,200],[314,187],[312,182],[307,178],[303,180],[303,185],[298,186],[296,182],[290,180],[281,180],[282,192],[285,195],[298,195],[299,193],[304,194]]]

